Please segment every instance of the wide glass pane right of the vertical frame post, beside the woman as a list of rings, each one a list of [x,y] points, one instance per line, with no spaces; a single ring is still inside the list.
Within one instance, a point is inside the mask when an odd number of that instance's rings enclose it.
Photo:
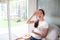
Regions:
[[[10,0],[9,2],[11,38],[14,40],[28,32],[25,23],[27,19],[27,0]]]

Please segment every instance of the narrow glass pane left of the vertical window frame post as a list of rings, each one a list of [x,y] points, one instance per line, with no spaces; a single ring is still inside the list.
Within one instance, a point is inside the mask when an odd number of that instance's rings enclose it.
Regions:
[[[9,40],[7,3],[0,2],[0,40]]]

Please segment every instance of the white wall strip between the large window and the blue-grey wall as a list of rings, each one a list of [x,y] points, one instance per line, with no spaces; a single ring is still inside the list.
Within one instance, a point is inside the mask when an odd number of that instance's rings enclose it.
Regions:
[[[36,0],[28,0],[28,18],[34,13],[36,10]],[[31,29],[33,28],[32,24],[28,25],[28,32],[31,32]]]

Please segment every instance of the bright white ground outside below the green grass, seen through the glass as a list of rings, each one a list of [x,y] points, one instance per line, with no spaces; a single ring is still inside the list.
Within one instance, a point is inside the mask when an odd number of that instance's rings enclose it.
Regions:
[[[8,34],[8,29],[6,28],[0,28],[0,40],[8,40],[9,34]],[[28,26],[26,24],[24,25],[18,25],[15,27],[11,27],[11,38],[14,40],[15,38],[19,38],[23,34],[28,32]]]

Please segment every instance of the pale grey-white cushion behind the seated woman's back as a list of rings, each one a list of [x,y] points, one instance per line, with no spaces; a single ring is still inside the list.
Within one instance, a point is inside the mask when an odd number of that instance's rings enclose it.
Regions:
[[[49,24],[48,35],[43,40],[58,40],[58,29],[56,25]]]

